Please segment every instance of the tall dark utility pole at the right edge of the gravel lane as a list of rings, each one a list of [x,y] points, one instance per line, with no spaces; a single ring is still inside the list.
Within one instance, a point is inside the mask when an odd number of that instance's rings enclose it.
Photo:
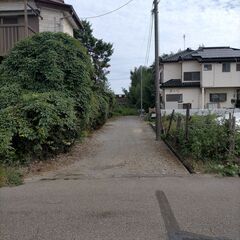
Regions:
[[[160,109],[160,66],[159,66],[159,33],[158,33],[158,0],[154,0],[154,22],[155,22],[155,91],[156,91],[156,140],[160,140],[161,134],[161,109]]]

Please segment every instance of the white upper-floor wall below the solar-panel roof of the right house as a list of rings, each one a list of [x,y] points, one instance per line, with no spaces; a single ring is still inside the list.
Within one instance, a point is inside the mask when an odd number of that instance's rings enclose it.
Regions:
[[[202,87],[240,87],[240,71],[231,63],[231,72],[222,72],[222,63],[212,63],[212,71],[203,71]]]

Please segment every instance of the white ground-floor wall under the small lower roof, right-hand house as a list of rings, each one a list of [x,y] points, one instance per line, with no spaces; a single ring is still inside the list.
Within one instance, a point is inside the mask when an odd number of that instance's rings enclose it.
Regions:
[[[166,109],[178,108],[178,102],[167,102],[167,94],[183,94],[182,103],[191,103],[192,108],[201,108],[200,88],[167,88],[164,90],[164,102]]]

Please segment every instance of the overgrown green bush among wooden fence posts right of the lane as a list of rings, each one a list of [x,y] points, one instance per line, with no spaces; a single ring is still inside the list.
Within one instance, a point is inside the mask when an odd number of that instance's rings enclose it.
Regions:
[[[183,123],[184,116],[182,120]],[[172,140],[172,136],[176,135],[177,147],[184,156],[216,162],[224,162],[229,158],[230,133],[227,120],[219,123],[215,115],[192,116],[189,120],[188,139],[186,139],[185,125],[176,132],[176,121],[174,121],[168,138]],[[239,148],[240,140],[237,134],[235,155],[239,155]]]

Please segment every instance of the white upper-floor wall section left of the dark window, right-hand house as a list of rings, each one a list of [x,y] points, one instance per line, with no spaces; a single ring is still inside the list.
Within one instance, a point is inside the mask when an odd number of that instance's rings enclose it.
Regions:
[[[163,82],[170,79],[181,79],[181,63],[164,63]]]

